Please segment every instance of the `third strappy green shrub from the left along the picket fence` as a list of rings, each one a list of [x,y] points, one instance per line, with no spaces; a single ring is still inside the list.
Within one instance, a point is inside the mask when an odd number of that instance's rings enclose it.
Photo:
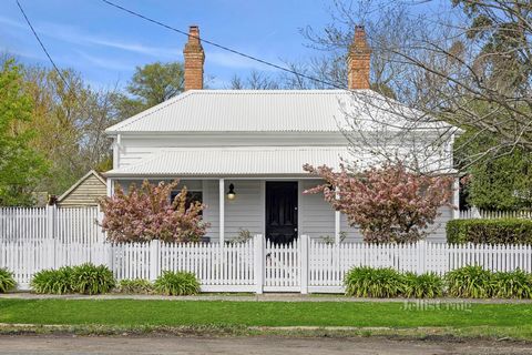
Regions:
[[[74,292],[89,295],[108,293],[115,285],[113,273],[105,265],[91,263],[73,267],[71,280]]]

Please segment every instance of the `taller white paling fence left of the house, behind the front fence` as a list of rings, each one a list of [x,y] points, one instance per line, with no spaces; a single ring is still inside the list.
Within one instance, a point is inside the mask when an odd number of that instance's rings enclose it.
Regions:
[[[101,243],[101,219],[98,207],[0,207],[0,241]]]

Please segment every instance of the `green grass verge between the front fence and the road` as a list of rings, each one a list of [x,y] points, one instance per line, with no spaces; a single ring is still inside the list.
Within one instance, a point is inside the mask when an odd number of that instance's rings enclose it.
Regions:
[[[0,300],[3,334],[155,332],[532,341],[531,318],[532,304]]]

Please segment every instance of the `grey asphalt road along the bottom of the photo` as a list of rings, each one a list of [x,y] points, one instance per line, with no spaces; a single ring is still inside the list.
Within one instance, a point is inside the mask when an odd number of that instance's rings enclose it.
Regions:
[[[531,354],[507,342],[423,342],[378,337],[89,337],[0,336],[0,354]]]

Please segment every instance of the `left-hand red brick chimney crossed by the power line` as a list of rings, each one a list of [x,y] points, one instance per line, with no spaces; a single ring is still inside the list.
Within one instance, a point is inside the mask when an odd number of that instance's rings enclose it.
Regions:
[[[188,29],[188,42],[183,50],[185,57],[185,91],[203,89],[203,63],[205,52],[200,41],[200,28],[195,24]]]

